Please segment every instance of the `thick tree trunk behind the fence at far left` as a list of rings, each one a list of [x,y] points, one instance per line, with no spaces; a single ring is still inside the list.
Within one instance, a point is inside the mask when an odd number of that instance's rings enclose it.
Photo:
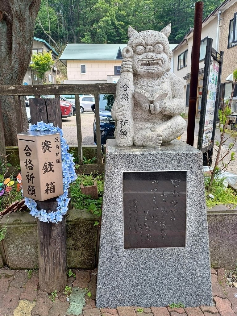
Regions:
[[[41,0],[2,0],[0,2],[0,84],[22,84],[30,63],[34,22]],[[12,97],[2,97],[6,146],[17,146],[17,118]],[[22,98],[23,129],[27,130],[26,105]]]

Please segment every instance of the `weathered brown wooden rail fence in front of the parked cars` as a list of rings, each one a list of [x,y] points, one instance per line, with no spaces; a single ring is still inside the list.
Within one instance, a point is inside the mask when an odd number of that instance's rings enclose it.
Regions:
[[[96,131],[100,131],[100,110],[99,110],[99,94],[116,94],[116,84],[114,83],[92,83],[92,84],[57,84],[57,85],[0,85],[0,152],[5,152],[5,139],[3,131],[3,118],[1,110],[1,97],[13,96],[15,102],[17,122],[17,132],[23,131],[22,113],[21,113],[21,96],[34,95],[40,98],[40,95],[54,95],[56,99],[60,95],[75,94],[76,103],[76,131],[78,145],[78,163],[80,172],[103,171],[102,155],[101,155],[101,138],[100,133],[96,133],[97,143],[97,164],[83,165],[82,159],[82,126],[80,113],[79,94],[94,94],[95,98],[95,124]]]

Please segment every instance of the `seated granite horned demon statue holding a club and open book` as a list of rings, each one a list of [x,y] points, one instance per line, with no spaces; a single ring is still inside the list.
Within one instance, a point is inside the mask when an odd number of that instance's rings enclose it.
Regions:
[[[183,82],[170,72],[170,32],[171,24],[160,32],[128,29],[111,110],[118,146],[161,146],[185,131]]]

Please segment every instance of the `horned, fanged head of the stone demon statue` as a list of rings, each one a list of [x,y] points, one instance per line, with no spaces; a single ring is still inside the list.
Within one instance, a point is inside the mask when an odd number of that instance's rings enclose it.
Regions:
[[[131,26],[128,29],[128,46],[123,50],[124,58],[132,58],[133,73],[137,76],[160,77],[170,70],[172,51],[168,37],[171,24],[160,32],[137,32]]]

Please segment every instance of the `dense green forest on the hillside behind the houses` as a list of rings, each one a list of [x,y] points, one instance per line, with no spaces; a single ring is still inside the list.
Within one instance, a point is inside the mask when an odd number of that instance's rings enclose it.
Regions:
[[[138,32],[172,24],[171,44],[193,27],[194,0],[42,0],[34,36],[59,53],[67,43],[125,44],[129,25]],[[223,0],[204,0],[203,18]]]

